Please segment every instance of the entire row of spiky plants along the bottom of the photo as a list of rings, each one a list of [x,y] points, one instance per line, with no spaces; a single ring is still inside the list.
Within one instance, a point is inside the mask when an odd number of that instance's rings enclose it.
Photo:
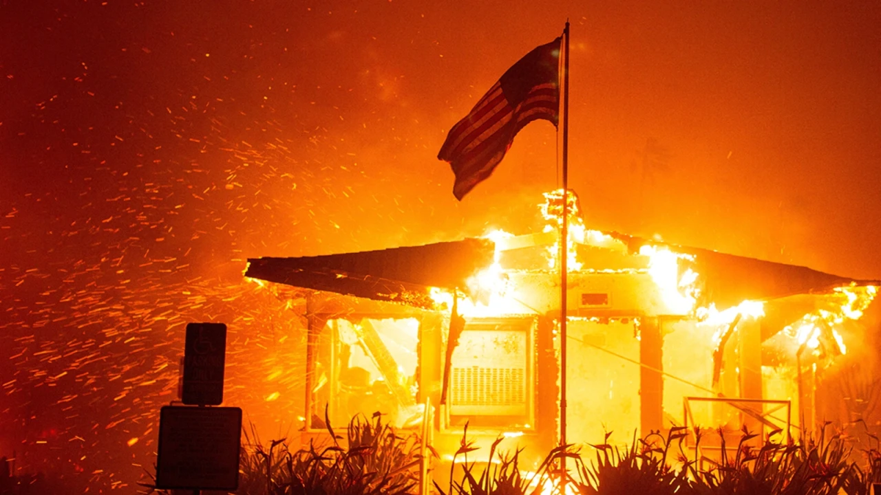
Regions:
[[[329,425],[329,422],[327,422]],[[522,470],[522,450],[500,452],[501,439],[478,462],[467,425],[448,479],[434,483],[440,495],[551,495],[559,493],[559,460],[570,460],[567,495],[871,495],[881,482],[881,442],[869,435],[866,448],[825,425],[816,438],[784,441],[780,431],[759,442],[746,430],[726,442],[721,430],[670,429],[633,436],[626,446],[590,445],[553,449],[535,472]],[[337,432],[328,426],[326,445],[292,450],[285,439],[263,444],[246,434],[241,454],[242,495],[416,495],[419,491],[419,439],[399,434],[379,414],[355,417]],[[721,442],[714,460],[702,454],[707,434]],[[685,446],[691,435],[694,445]],[[859,458],[858,460],[855,460]],[[574,467],[573,467],[574,466]],[[455,469],[458,467],[459,469]],[[456,474],[458,473],[458,474]],[[144,485],[152,488],[149,485]],[[155,491],[154,489],[151,491]]]

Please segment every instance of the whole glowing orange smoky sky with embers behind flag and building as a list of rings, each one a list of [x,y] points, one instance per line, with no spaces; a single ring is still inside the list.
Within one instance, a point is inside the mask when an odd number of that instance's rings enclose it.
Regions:
[[[163,318],[276,335],[272,300],[228,295],[249,256],[537,228],[557,187],[551,124],[524,129],[462,203],[435,157],[566,18],[570,186],[589,226],[881,278],[875,3],[3,2],[0,375],[19,381],[0,420],[36,417],[28,441],[93,431],[38,414],[63,403],[104,411],[95,431],[128,417],[149,437],[135,419],[166,400],[174,368],[159,366],[182,351],[181,321]],[[94,336],[113,344],[100,360],[51,358]]]

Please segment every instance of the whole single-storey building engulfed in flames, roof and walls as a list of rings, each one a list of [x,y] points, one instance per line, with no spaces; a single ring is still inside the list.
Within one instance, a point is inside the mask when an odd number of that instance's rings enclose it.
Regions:
[[[544,233],[248,260],[246,277],[301,289],[285,297],[308,321],[304,437],[381,411],[441,454],[466,423],[474,439],[554,447],[553,201]],[[671,425],[798,436],[864,412],[860,397],[824,402],[823,382],[858,345],[877,281],[592,231],[570,211],[569,441]]]

